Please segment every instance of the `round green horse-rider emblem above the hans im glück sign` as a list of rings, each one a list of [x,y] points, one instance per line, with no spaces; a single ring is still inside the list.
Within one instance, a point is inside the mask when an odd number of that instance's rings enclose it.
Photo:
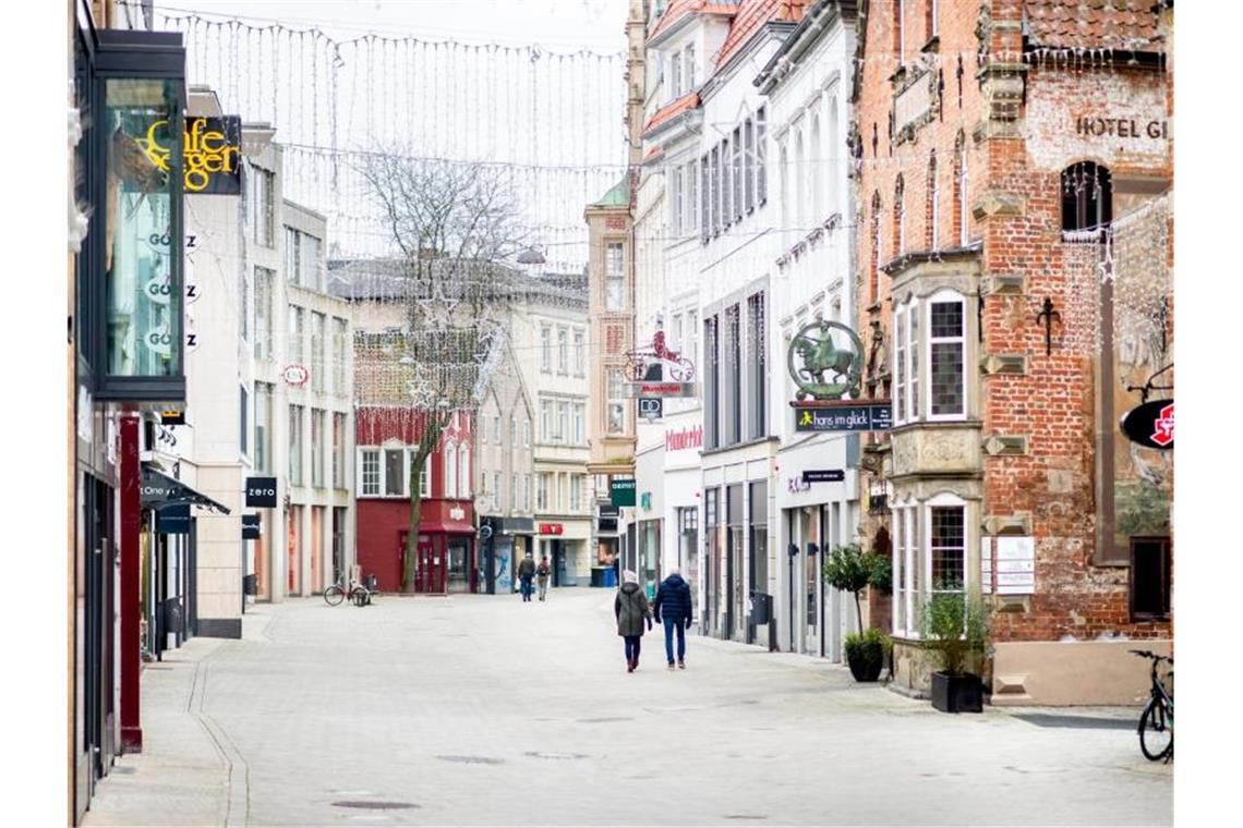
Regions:
[[[803,325],[789,341],[786,364],[798,400],[840,400],[859,396],[863,340],[837,322],[818,319]]]

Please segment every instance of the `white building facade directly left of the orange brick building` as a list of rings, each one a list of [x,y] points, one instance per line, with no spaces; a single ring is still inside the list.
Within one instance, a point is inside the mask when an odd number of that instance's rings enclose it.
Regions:
[[[769,343],[773,433],[777,452],[777,644],[842,660],[843,638],[858,627],[854,598],[828,588],[825,555],[858,539],[859,436],[797,432],[787,405],[798,386],[788,359],[800,333],[819,336],[818,323],[853,326],[853,181],[846,125],[854,57],[853,4],[814,4],[759,73],[769,101],[769,158],[779,227],[772,289]],[[832,330],[844,346],[849,335]],[[807,482],[807,472],[840,473],[840,482]]]

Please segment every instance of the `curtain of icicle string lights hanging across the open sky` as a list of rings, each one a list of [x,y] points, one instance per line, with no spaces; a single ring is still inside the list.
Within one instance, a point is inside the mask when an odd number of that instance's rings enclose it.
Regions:
[[[585,266],[583,206],[625,171],[624,52],[337,38],[173,10],[157,10],[155,27],[185,35],[190,84],[215,89],[244,122],[276,129],[285,196],[326,215],[341,256],[392,253],[380,217],[358,199],[365,187],[357,170],[368,154],[403,146],[423,159],[513,170],[521,223],[554,254],[547,269]]]

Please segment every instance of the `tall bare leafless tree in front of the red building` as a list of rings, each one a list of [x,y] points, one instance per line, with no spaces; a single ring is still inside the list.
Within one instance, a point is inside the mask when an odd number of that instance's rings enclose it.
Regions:
[[[409,591],[423,502],[419,475],[454,412],[477,408],[501,356],[501,320],[512,293],[503,262],[521,248],[522,232],[513,190],[498,168],[377,153],[360,171],[400,256],[389,294],[401,304],[404,330],[387,336],[387,365],[374,367],[400,392],[400,402],[389,405],[408,406],[418,441],[401,567],[401,590]]]

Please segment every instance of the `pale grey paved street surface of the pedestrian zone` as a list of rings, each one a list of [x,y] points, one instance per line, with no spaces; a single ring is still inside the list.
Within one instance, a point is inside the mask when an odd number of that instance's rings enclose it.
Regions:
[[[1132,710],[945,715],[689,637],[626,674],[612,591],[254,607],[143,673],[87,826],[1167,826]],[[660,633],[658,628],[655,633]]]

